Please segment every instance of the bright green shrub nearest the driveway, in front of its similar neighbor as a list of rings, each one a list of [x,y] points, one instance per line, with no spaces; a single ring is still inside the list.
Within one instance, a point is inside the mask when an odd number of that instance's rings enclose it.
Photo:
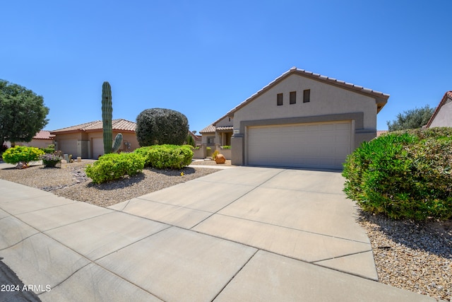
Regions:
[[[124,175],[136,175],[143,167],[144,158],[138,153],[109,153],[100,156],[93,165],[87,165],[85,173],[99,184]]]

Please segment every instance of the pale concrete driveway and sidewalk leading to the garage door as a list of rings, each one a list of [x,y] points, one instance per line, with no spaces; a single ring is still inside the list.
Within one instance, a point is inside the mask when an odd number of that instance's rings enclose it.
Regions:
[[[235,167],[105,209],[0,180],[0,257],[42,301],[436,301],[375,281],[343,181]]]

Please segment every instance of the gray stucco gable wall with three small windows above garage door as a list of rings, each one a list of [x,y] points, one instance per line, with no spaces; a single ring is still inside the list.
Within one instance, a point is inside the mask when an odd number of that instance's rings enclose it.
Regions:
[[[305,89],[311,90],[309,103],[303,103]],[[290,91],[297,92],[296,104],[289,104]],[[276,105],[278,93],[283,93],[283,105],[281,106]],[[349,112],[364,112],[364,129],[376,130],[376,101],[374,98],[293,74],[234,112],[234,129],[239,129],[241,121],[335,115]]]

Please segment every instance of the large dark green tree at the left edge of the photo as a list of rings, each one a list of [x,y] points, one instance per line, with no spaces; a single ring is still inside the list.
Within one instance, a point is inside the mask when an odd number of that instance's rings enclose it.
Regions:
[[[0,80],[0,140],[31,141],[45,127],[44,98],[18,84]]]

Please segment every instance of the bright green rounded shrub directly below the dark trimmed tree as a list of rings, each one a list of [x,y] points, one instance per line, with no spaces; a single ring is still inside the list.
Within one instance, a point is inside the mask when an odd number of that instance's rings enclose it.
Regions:
[[[180,169],[191,163],[191,146],[155,145],[135,150],[143,156],[146,167],[157,169]]]

